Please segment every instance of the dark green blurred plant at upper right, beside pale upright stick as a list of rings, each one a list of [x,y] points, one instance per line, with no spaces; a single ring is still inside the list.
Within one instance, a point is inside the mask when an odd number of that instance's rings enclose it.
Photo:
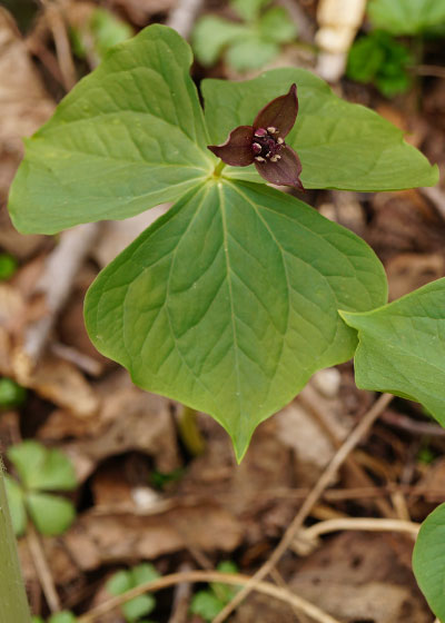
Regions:
[[[373,83],[385,97],[403,93],[412,86],[409,49],[383,30],[360,37],[349,50],[346,75],[350,80]]]

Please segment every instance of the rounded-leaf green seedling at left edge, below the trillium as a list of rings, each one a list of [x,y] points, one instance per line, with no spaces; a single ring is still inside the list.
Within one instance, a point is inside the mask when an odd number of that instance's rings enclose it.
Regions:
[[[56,448],[26,441],[7,451],[19,481],[6,476],[12,525],[18,536],[26,532],[28,517],[37,530],[51,536],[63,533],[76,516],[73,504],[53,495],[55,491],[77,487],[75,469],[69,458]]]

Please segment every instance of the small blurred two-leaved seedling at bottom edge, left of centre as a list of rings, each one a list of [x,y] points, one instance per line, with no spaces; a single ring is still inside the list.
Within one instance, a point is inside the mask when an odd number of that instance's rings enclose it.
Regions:
[[[107,591],[111,595],[121,595],[130,589],[136,589],[146,582],[152,582],[160,577],[156,567],[150,563],[142,563],[130,570],[117,571],[107,582]],[[128,623],[150,623],[147,619],[142,619],[150,614],[156,607],[156,599],[154,595],[139,595],[128,601],[121,606],[125,620]]]

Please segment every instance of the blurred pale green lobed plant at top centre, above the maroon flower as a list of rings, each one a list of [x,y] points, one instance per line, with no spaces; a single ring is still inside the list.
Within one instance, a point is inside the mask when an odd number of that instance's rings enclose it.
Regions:
[[[258,69],[298,34],[286,9],[270,7],[269,0],[231,0],[230,4],[241,22],[204,16],[195,27],[192,47],[206,67],[224,56],[237,71]]]

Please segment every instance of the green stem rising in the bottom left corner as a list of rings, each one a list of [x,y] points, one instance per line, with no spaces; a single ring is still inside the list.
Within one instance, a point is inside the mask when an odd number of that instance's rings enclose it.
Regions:
[[[0,458],[0,621],[31,623]]]

